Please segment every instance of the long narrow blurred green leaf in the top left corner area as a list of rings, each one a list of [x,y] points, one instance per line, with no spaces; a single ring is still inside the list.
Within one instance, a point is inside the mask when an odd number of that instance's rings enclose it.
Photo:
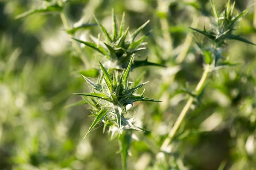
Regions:
[[[29,11],[24,12],[23,14],[19,14],[15,17],[15,19],[20,19],[23,17],[27,17],[29,15],[35,14],[35,13],[42,13],[42,12],[53,12],[53,11],[62,11],[63,7],[59,6],[57,3],[48,5],[45,8],[40,8],[40,9],[32,9]]]

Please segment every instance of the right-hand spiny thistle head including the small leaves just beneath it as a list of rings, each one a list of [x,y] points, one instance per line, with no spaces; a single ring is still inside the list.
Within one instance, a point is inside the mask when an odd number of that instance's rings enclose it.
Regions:
[[[215,20],[212,22],[212,26],[209,31],[207,31],[204,27],[204,30],[198,30],[195,28],[191,28],[192,30],[203,34],[212,40],[212,44],[210,46],[206,46],[205,44],[199,43],[197,40],[195,42],[204,52],[204,60],[207,64],[213,64],[215,67],[217,66],[218,59],[224,59],[221,54],[224,51],[223,45],[226,45],[225,40],[238,40],[242,42],[246,42],[248,44],[255,45],[254,43],[240,37],[239,35],[234,35],[232,32],[235,30],[236,24],[239,22],[241,17],[243,17],[250,10],[252,6],[242,11],[240,14],[234,15],[235,2],[231,5],[230,0],[228,0],[224,11],[218,13],[214,0],[211,0],[212,9],[214,13]],[[220,66],[235,65],[229,62],[223,62]]]

